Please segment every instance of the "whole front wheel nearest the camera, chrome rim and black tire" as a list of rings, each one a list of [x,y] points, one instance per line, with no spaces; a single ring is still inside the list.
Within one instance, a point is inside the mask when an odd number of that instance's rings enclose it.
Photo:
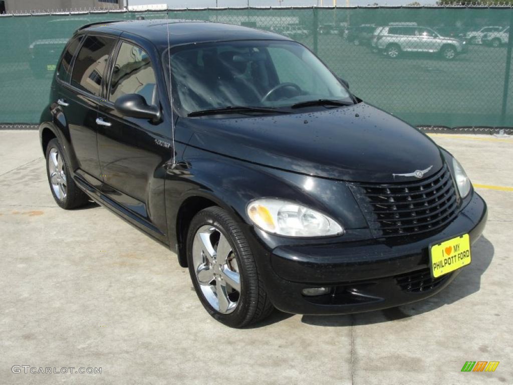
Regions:
[[[222,208],[208,207],[192,219],[187,263],[196,294],[216,320],[242,328],[271,313],[248,242]]]

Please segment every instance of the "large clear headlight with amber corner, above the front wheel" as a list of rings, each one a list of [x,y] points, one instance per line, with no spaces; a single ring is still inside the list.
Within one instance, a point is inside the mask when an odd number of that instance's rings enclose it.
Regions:
[[[268,233],[289,237],[325,237],[344,229],[328,216],[280,199],[257,199],[247,206],[251,221]]]

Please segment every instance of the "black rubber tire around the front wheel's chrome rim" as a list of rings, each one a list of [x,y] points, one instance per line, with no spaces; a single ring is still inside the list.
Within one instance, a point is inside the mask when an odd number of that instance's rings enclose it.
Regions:
[[[239,268],[241,292],[238,303],[229,314],[214,309],[205,298],[196,277],[193,261],[193,241],[202,226],[213,226],[228,240]],[[216,320],[232,328],[242,328],[269,316],[274,309],[267,296],[253,254],[239,225],[220,207],[201,210],[192,219],[187,234],[187,262],[194,290],[206,311]]]

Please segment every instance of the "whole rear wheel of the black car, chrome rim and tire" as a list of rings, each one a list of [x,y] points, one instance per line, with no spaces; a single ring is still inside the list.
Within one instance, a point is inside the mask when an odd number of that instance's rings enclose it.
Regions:
[[[57,139],[46,147],[46,172],[55,202],[64,209],[85,205],[89,198],[73,181],[64,151]]]

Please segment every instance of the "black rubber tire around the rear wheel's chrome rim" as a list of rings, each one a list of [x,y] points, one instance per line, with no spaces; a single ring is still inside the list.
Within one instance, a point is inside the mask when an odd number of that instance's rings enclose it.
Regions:
[[[58,154],[62,157],[62,162],[64,163],[64,174],[66,176],[66,195],[63,197],[58,197],[56,195],[56,192],[54,190],[52,180],[51,180],[51,172],[50,172],[50,153],[52,152],[52,149],[56,149],[58,151]],[[70,174],[70,168],[68,166],[68,162],[66,161],[66,156],[62,156],[64,154],[64,150],[61,146],[61,144],[58,142],[56,138],[52,139],[48,146],[46,147],[46,175],[48,177],[48,184],[50,186],[50,191],[52,192],[53,199],[55,200],[55,203],[57,203],[61,208],[64,208],[66,210],[77,208],[80,206],[84,206],[89,202],[89,198],[85,194],[84,191],[80,189],[74,182],[71,174]],[[64,178],[63,178],[64,179]]]

